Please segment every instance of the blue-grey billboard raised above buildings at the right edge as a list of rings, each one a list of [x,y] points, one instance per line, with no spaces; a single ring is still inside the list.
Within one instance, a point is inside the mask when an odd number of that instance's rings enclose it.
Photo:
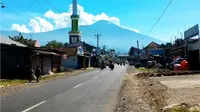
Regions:
[[[193,26],[192,28],[190,28],[184,32],[184,37],[186,40],[190,39],[194,36],[197,36],[197,35],[199,35],[199,25],[198,24],[196,24],[195,26]]]

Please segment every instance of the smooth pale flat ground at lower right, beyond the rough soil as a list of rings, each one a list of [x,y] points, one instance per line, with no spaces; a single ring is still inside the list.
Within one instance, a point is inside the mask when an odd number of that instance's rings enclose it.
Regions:
[[[168,105],[185,103],[200,111],[200,75],[152,77],[168,87]]]

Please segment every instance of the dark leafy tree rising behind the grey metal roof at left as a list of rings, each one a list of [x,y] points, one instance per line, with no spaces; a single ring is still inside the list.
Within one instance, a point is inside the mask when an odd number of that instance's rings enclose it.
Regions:
[[[34,47],[35,46],[35,41],[32,39],[24,38],[22,33],[19,33],[18,36],[8,36],[11,40],[19,42],[21,44],[27,45],[28,47]]]

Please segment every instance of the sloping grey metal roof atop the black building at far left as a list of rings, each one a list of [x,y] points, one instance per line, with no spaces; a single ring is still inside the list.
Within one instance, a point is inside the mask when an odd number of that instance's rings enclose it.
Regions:
[[[7,44],[7,45],[13,45],[14,44],[14,45],[20,46],[20,47],[27,47],[24,44],[21,44],[19,42],[13,41],[13,40],[11,40],[9,38],[5,38],[5,37],[2,37],[2,36],[0,36],[0,43],[1,44]]]

